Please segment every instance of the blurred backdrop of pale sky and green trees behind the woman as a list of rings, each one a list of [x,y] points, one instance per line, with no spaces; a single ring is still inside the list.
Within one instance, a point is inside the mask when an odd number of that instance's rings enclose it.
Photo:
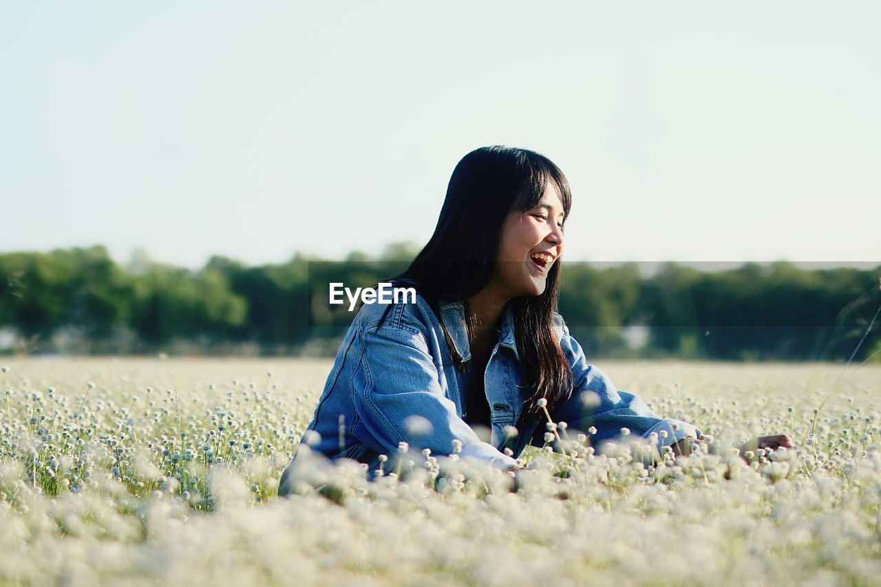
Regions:
[[[0,5],[0,353],[332,356],[482,145],[593,356],[878,360],[881,8]]]

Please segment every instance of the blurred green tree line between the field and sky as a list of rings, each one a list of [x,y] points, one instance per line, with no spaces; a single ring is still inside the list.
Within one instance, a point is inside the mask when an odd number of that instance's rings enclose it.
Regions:
[[[417,252],[396,243],[375,258],[260,266],[214,256],[197,271],[144,256],[122,267],[100,246],[6,253],[0,352],[332,356],[353,313],[329,305],[329,282],[370,286]],[[881,357],[879,274],[564,263],[559,311],[590,356],[862,361]]]

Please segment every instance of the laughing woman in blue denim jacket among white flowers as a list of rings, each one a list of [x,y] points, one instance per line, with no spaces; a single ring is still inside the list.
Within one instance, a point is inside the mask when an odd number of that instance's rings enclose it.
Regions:
[[[465,155],[431,240],[393,279],[416,289],[415,302],[360,308],[304,435],[311,449],[298,453],[375,472],[401,448],[457,451],[515,469],[527,444],[544,444],[547,416],[570,436],[593,433],[594,444],[658,433],[676,454],[689,452],[700,430],[617,390],[556,311],[571,199],[566,177],[537,152]],[[780,446],[791,437],[761,436],[741,450]],[[297,463],[279,494],[292,491]]]

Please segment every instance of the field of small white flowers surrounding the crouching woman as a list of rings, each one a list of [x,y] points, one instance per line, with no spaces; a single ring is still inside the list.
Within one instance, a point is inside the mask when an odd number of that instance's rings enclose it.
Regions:
[[[0,360],[0,583],[881,583],[881,367],[600,362],[714,450],[278,498],[330,364]],[[732,454],[760,434],[796,450]]]

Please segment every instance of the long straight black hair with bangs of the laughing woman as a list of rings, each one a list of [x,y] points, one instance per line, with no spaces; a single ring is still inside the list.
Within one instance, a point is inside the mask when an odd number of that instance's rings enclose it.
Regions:
[[[470,339],[474,325],[470,323],[468,299],[492,277],[505,219],[511,212],[535,208],[551,183],[568,217],[572,205],[569,183],[544,155],[503,145],[468,153],[450,177],[431,240],[410,267],[390,281],[414,287],[436,313],[440,301],[462,301]],[[545,398],[550,408],[572,389],[572,371],[554,333],[559,272],[558,259],[548,272],[542,294],[508,301],[513,304],[515,339],[523,365],[526,412],[540,410],[539,398]],[[456,366],[464,369],[462,356],[440,322]]]

